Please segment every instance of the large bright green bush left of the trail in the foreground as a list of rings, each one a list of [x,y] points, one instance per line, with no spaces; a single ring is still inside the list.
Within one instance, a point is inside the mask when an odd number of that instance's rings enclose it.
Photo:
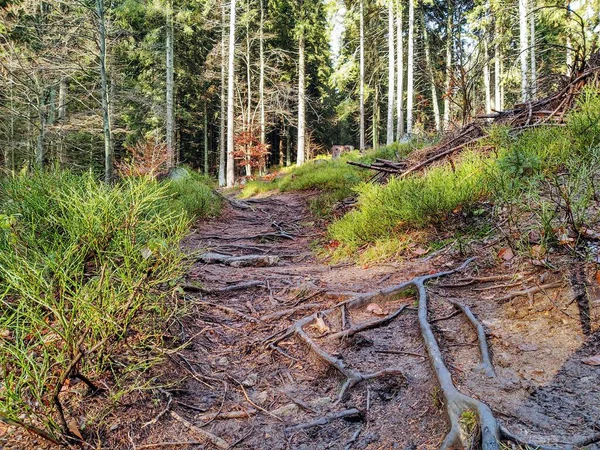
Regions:
[[[0,417],[58,436],[55,395],[85,417],[82,383],[66,380],[102,380],[118,398],[151,365],[189,222],[144,178],[25,174],[0,180],[0,205]]]

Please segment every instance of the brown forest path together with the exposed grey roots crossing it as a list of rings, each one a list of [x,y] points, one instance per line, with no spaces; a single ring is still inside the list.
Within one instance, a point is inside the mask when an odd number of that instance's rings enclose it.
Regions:
[[[188,344],[165,384],[184,381],[157,394],[148,420],[160,417],[136,448],[594,448],[600,399],[571,401],[585,382],[561,370],[599,343],[543,351],[563,329],[531,343],[506,302],[473,289],[498,284],[478,260],[328,266],[314,256],[322,232],[300,194],[232,203],[198,224],[182,285]],[[552,383],[554,410],[539,394]]]

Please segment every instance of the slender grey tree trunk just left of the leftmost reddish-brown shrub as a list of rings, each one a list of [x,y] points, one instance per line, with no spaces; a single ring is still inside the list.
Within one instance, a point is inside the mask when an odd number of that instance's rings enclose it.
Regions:
[[[100,95],[102,97],[102,124],[104,130],[104,181],[110,183],[113,177],[112,129],[110,124],[110,104],[108,101],[108,77],[106,75],[106,26],[104,21],[104,0],[96,0],[98,15],[98,44],[100,48]]]

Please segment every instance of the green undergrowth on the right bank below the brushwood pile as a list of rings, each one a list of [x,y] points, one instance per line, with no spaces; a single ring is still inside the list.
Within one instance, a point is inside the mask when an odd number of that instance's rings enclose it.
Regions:
[[[528,213],[535,218],[530,226],[546,241],[555,239],[565,221],[577,234],[597,219],[590,214],[598,197],[599,111],[598,90],[588,88],[563,127],[520,133],[492,127],[486,139],[452,163],[386,185],[357,184],[357,208],[330,225],[329,248],[335,258],[355,256],[357,250],[359,259],[380,258],[382,249],[393,256],[410,249],[407,234],[415,230],[439,229],[453,217],[464,226],[482,200],[495,204],[497,213],[514,209],[515,228]]]

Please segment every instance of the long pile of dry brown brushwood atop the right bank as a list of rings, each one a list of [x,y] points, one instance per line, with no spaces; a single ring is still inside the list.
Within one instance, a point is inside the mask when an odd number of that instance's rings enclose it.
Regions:
[[[576,104],[584,87],[597,80],[600,74],[600,52],[578,66],[570,77],[558,81],[560,87],[554,93],[539,100],[516,104],[510,110],[478,116],[458,132],[446,136],[439,144],[411,153],[410,158],[405,161],[376,160],[368,165],[349,161],[348,164],[375,170],[377,173],[370,181],[385,181],[390,174],[404,178],[478,143],[488,136],[491,125],[509,126],[513,131],[542,125],[562,126],[565,114]]]

